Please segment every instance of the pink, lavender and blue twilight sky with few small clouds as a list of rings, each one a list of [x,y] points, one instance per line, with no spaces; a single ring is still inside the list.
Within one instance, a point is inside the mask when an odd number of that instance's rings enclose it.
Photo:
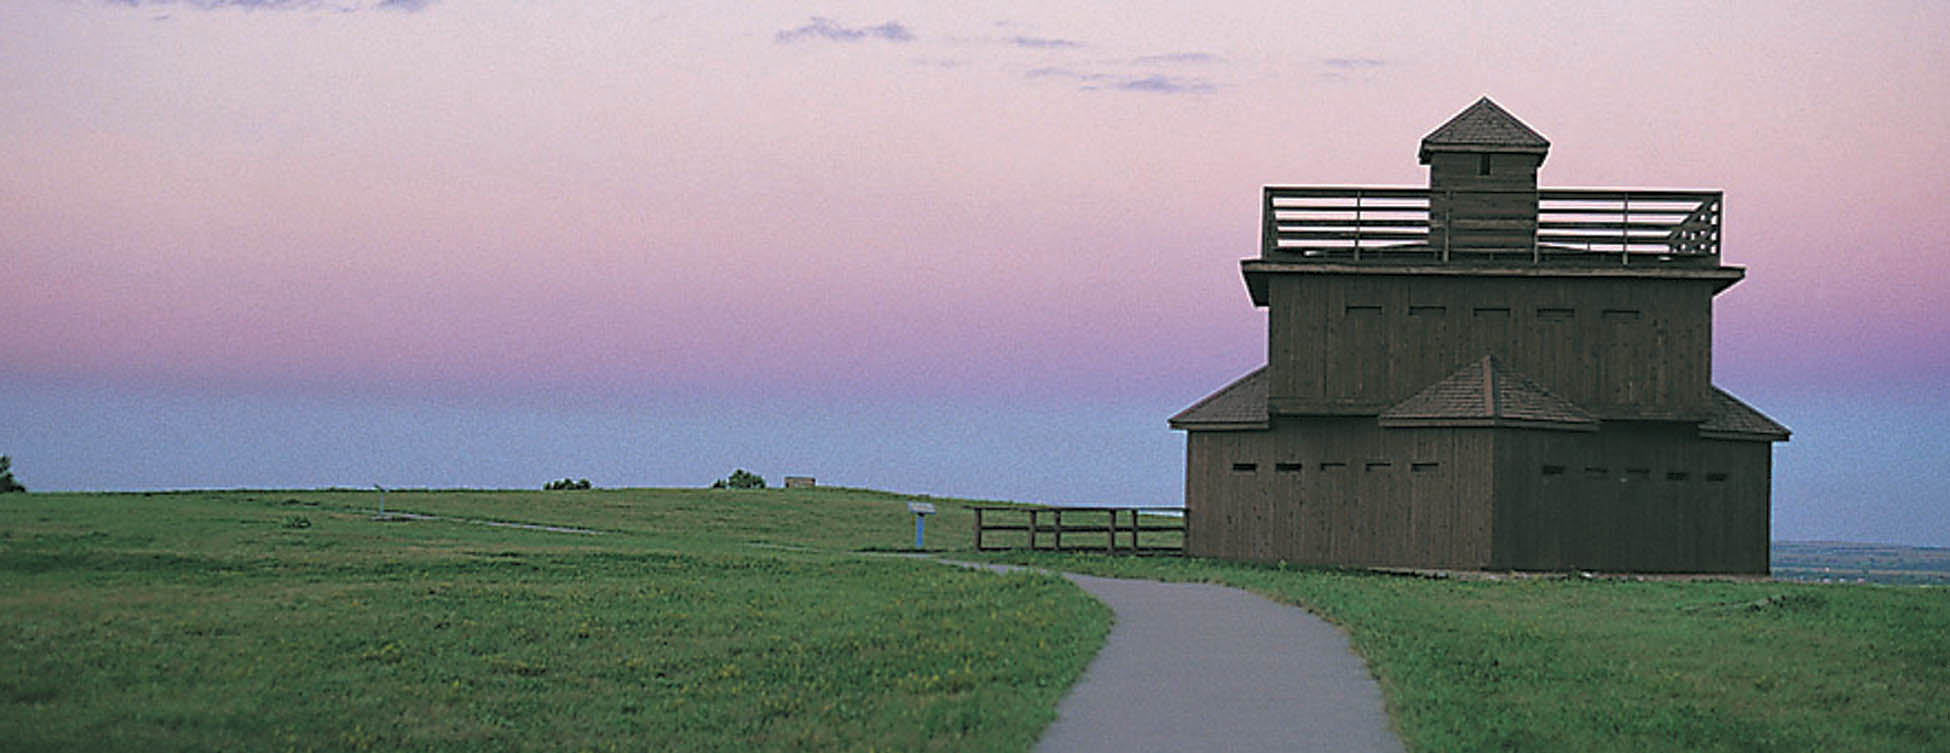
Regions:
[[[1726,191],[1776,538],[1950,546],[1950,6],[1207,6],[8,2],[0,453],[1178,503],[1260,185],[1488,94],[1544,185]]]

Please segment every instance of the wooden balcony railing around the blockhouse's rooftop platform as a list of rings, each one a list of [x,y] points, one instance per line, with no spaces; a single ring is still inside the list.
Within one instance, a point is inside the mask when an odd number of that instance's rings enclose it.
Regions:
[[[1262,256],[1320,261],[1718,261],[1720,191],[1268,185]]]

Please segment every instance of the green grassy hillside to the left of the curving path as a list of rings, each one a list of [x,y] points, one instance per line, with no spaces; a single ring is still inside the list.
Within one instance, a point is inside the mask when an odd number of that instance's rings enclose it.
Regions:
[[[885,494],[376,501],[0,495],[0,749],[1022,751],[1110,616],[844,554],[913,542]]]

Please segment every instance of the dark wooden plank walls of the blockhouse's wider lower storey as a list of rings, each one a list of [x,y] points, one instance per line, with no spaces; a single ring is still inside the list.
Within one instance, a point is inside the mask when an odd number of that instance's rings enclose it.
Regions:
[[[1347,416],[1281,417],[1269,431],[1191,431],[1186,552],[1295,564],[1765,574],[1771,453],[1765,441],[1698,439],[1691,425],[1659,421],[1574,433],[1383,429]]]

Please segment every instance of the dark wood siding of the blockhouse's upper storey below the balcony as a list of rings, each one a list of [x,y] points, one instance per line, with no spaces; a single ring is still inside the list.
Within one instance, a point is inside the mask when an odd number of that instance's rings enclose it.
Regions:
[[[1700,419],[1712,281],[1279,275],[1268,365],[1281,414],[1375,414],[1494,353],[1605,419]]]

